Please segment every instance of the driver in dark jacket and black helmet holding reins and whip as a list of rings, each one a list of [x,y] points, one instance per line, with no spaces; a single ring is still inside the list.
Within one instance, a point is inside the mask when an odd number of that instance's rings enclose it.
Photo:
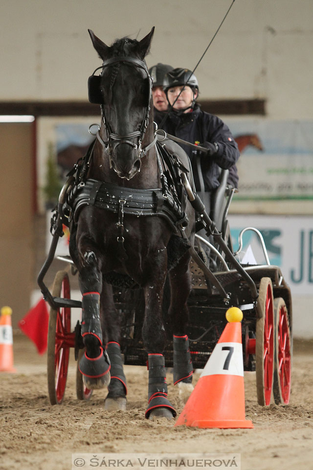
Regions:
[[[207,154],[201,153],[204,190],[212,191],[220,185],[219,168],[231,169],[228,184],[236,188],[238,175],[235,163],[239,158],[237,143],[222,119],[201,111],[196,102],[199,93],[196,76],[188,69],[174,69],[165,75],[163,89],[173,109],[162,124],[162,129],[168,134],[184,141],[198,143],[209,150]],[[159,126],[161,119],[156,115],[155,120]],[[197,151],[192,147],[180,145],[191,160],[196,190],[200,191],[200,180],[197,178]]]

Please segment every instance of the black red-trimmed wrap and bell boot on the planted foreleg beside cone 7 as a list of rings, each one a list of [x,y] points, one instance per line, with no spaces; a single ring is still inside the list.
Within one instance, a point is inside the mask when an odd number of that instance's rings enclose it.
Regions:
[[[148,419],[154,408],[168,408],[173,417],[176,411],[171,402],[167,399],[167,383],[165,375],[165,360],[163,354],[149,354],[149,388],[148,388],[148,407],[145,417]]]

